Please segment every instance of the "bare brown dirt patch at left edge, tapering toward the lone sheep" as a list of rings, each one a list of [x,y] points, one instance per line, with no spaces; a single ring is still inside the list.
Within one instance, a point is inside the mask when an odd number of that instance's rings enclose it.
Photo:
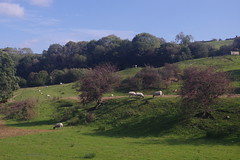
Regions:
[[[14,127],[8,127],[4,124],[4,121],[0,119],[0,139],[7,137],[23,136],[34,133],[50,132],[50,130],[43,129],[20,129]]]

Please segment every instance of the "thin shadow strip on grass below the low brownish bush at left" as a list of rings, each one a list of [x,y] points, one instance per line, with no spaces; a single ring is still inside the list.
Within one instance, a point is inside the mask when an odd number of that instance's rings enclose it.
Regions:
[[[54,120],[41,120],[41,121],[18,121],[14,124],[7,124],[7,126],[11,127],[37,127],[43,125],[53,125],[55,123]]]

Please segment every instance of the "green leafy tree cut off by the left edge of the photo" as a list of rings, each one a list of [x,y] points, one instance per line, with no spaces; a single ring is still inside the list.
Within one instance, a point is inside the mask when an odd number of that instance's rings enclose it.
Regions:
[[[0,103],[7,102],[13,91],[18,88],[18,79],[15,77],[14,63],[11,57],[0,50]]]

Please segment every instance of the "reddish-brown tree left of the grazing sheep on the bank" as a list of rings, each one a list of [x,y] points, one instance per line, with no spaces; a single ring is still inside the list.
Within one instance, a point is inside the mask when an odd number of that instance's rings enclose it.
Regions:
[[[101,102],[104,93],[111,91],[119,84],[115,67],[109,64],[99,65],[90,69],[80,80],[82,103]]]

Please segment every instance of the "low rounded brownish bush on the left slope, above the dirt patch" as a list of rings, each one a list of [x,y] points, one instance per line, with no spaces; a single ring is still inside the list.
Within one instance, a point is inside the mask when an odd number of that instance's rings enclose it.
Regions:
[[[36,115],[35,108],[37,105],[36,99],[27,99],[15,102],[5,108],[4,114],[6,118],[17,120],[30,120]]]

